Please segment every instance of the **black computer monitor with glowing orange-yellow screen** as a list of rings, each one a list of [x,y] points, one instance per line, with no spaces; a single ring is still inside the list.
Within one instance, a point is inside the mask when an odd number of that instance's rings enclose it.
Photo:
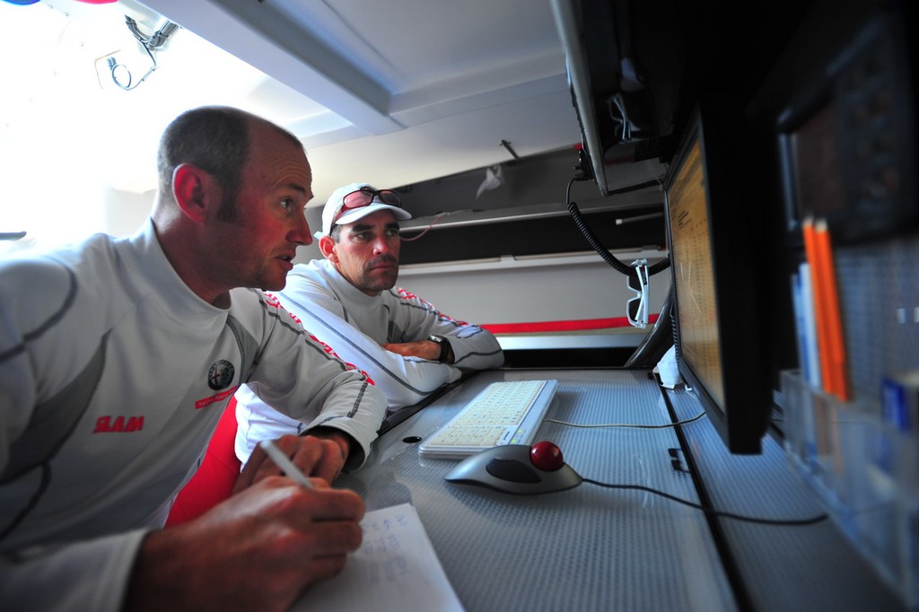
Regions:
[[[730,131],[707,134],[703,117],[688,120],[664,182],[677,364],[729,450],[758,454],[772,395],[757,315],[761,228],[743,200],[755,187],[735,173],[734,147],[719,146]]]

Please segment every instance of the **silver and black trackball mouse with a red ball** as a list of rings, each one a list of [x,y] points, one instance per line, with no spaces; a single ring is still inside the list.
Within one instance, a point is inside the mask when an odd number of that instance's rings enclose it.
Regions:
[[[555,493],[582,482],[551,442],[486,448],[460,461],[444,479],[517,495]]]

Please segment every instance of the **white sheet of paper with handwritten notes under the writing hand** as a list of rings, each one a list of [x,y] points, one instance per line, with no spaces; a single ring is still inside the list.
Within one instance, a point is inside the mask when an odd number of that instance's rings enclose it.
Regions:
[[[374,510],[345,571],[310,587],[291,610],[461,611],[412,504]]]

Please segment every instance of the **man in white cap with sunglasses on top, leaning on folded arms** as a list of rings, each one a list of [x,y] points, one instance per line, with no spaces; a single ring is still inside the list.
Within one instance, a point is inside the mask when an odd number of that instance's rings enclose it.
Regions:
[[[399,276],[399,221],[411,218],[395,191],[367,183],[335,189],[323,209],[322,232],[313,234],[324,259],[294,266],[276,294],[311,334],[369,375],[391,411],[420,402],[462,370],[504,363],[490,332],[392,289]],[[260,440],[304,427],[246,387],[236,399],[236,455],[243,463]]]

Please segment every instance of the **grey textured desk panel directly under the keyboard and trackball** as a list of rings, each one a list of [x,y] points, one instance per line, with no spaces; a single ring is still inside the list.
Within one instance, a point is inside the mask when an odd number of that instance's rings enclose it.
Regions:
[[[517,496],[444,481],[454,460],[423,459],[432,435],[494,380],[555,379],[546,418],[581,424],[669,423],[644,371],[481,372],[395,426],[367,465],[336,482],[369,510],[414,505],[463,606],[477,610],[732,610],[705,516],[651,493],[584,483]],[[539,439],[600,482],[640,484],[698,502],[691,476],[673,467],[673,429],[584,429],[544,423]]]

